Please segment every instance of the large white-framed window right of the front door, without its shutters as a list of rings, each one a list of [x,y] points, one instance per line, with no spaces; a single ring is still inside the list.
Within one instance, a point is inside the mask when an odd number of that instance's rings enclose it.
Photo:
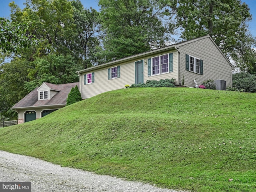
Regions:
[[[152,75],[169,72],[169,56],[168,54],[160,55],[152,58]]]

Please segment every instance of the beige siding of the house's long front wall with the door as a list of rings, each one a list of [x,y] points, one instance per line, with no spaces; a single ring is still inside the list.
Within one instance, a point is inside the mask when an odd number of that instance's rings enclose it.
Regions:
[[[173,72],[168,72],[166,74],[159,74],[155,76],[148,77],[148,65],[144,64],[148,62],[148,58],[152,58],[154,56],[164,55],[173,52]],[[82,98],[90,98],[92,96],[96,96],[100,93],[122,89],[125,88],[126,84],[131,85],[135,83],[135,62],[143,61],[143,71],[144,71],[144,83],[147,80],[160,80],[166,78],[175,78],[178,80],[178,52],[175,50],[171,50],[161,54],[155,54],[150,57],[140,58],[137,60],[132,60],[130,62],[124,62],[122,64],[112,65],[106,68],[102,68],[99,70],[92,70],[87,73],[82,73],[79,77],[80,80],[80,92],[82,94]],[[120,66],[120,78],[110,79],[108,80],[108,68],[112,68],[115,66]],[[84,75],[88,73],[94,72],[94,83],[84,85]],[[177,81],[178,82],[178,81]]]

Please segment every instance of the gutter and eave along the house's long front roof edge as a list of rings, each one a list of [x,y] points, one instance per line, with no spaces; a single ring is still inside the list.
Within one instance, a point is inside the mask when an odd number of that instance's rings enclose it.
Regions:
[[[148,52],[144,52],[142,54],[137,54],[137,55],[133,55],[133,56],[130,56],[130,57],[126,57],[126,58],[122,58],[122,59],[119,59],[119,60],[115,60],[115,61],[112,61],[112,62],[108,62],[108,63],[102,64],[102,65],[98,65],[98,66],[90,67],[90,68],[83,69],[83,70],[80,70],[80,71],[76,71],[76,73],[81,74],[81,73],[84,73],[84,72],[88,72],[88,71],[92,71],[92,70],[97,70],[97,69],[101,69],[101,68],[104,68],[104,67],[108,67],[108,66],[111,66],[111,65],[114,65],[114,64],[119,64],[119,63],[122,63],[122,62],[128,62],[130,60],[134,60],[136,58],[145,57],[145,56],[151,55],[153,53],[156,54],[156,53],[159,53],[159,52],[164,52],[164,51],[169,50],[169,49],[174,48],[174,47],[176,47],[175,44],[171,45],[171,46],[166,46],[166,47],[163,47],[163,48],[159,48],[159,49],[156,49],[156,50],[151,50],[151,51],[148,51]]]

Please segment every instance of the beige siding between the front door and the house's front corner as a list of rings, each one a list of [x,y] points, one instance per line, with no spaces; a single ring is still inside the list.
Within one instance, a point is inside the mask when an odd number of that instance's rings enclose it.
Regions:
[[[168,53],[173,53],[173,72],[168,72],[168,73],[164,73],[164,74],[157,74],[157,75],[152,75],[148,76],[148,65],[144,66],[144,83],[147,80],[160,80],[160,79],[176,79],[176,84],[178,84],[178,52],[173,50],[173,51],[169,51],[166,53],[161,53],[161,54],[157,54],[157,55],[152,55],[150,58],[152,57],[156,57],[156,56],[160,56],[160,55],[164,55],[164,54],[168,54]],[[148,58],[146,59],[148,60]],[[152,73],[152,71],[151,71]]]

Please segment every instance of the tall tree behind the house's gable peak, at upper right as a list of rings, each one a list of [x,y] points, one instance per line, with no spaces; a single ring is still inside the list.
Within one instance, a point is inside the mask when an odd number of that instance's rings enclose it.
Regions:
[[[236,66],[251,66],[255,38],[248,30],[252,16],[245,3],[240,0],[179,0],[173,8],[177,11],[177,24],[184,40],[210,34]]]

